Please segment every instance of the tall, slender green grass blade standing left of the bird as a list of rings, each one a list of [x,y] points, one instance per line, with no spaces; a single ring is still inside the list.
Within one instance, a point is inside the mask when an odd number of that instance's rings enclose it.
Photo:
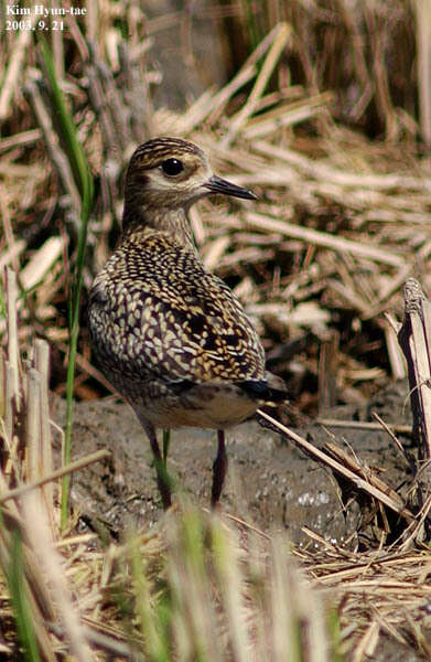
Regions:
[[[79,334],[79,298],[83,285],[83,269],[87,247],[87,226],[93,209],[94,188],[93,179],[84,149],[77,138],[76,127],[71,113],[67,109],[63,92],[58,85],[54,60],[50,47],[44,39],[41,39],[42,58],[50,92],[52,96],[53,111],[56,114],[60,138],[80,195],[80,223],[78,231],[76,263],[73,269],[71,297],[68,299],[68,332],[69,350],[67,360],[66,381],[66,426],[63,462],[68,463],[71,459],[72,417],[73,417],[73,392],[75,378],[76,351]],[[68,517],[68,491],[69,476],[63,478],[62,485],[62,527],[64,528]]]

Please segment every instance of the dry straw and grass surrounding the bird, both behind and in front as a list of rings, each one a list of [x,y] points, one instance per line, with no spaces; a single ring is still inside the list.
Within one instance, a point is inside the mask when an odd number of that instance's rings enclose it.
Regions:
[[[419,142],[430,140],[429,10],[419,0],[268,0],[255,15],[243,4],[239,12],[209,4],[195,19],[223,21],[231,77],[181,113],[153,109],[159,75],[149,58],[151,41],[172,24],[191,55],[194,22],[186,12],[146,20],[136,6],[104,0],[103,20],[91,2],[85,20],[69,17],[66,32],[50,34],[97,175],[84,287],[118,237],[121,177],[136,145],[150,135],[190,138],[219,173],[260,195],[235,214],[202,203],[192,224],[206,266],[255,319],[271,369],[304,412],[341,401],[364,405],[389,377],[407,375],[382,313],[401,314],[410,276],[431,290],[430,164]],[[94,536],[72,533],[74,522],[61,535],[56,481],[79,466],[52,466],[47,349],[33,338],[49,342],[51,386],[63,393],[80,201],[32,33],[4,34],[0,267],[17,273],[19,298],[10,285],[9,314],[0,299],[0,335],[8,340],[0,371],[0,565],[9,579],[0,586],[0,653],[17,659],[21,623],[30,632],[23,640],[21,631],[21,642],[47,660],[66,651],[77,660],[142,659],[142,651],[146,659],[172,659],[169,630],[179,660],[278,660],[289,650],[291,660],[315,662],[337,659],[340,619],[341,649],[354,662],[373,655],[381,633],[429,658],[430,558],[416,535],[427,498],[391,548],[381,537],[379,549],[352,552],[310,532],[317,548],[293,551],[299,563],[285,541],[187,505],[153,533],[105,549]],[[90,363],[85,330],[77,365],[78,397],[109,387]],[[28,483],[37,485],[30,496]]]

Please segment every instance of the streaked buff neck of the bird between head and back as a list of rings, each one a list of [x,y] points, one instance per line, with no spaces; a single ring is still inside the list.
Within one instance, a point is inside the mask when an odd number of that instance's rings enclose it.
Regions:
[[[125,206],[123,239],[144,239],[158,234],[163,235],[170,243],[176,244],[179,248],[185,248],[197,255],[186,210],[182,207],[130,210]]]

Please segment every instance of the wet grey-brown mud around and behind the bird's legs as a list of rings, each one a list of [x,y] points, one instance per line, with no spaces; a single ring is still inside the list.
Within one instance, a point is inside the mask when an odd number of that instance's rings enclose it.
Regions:
[[[352,406],[328,412],[331,418],[370,420],[377,410],[386,423],[408,423],[407,388],[395,383],[375,397],[366,410]],[[407,406],[406,406],[407,402]],[[63,402],[54,405],[54,417],[62,424]],[[331,439],[312,421],[300,429],[316,446]],[[366,466],[379,468],[381,478],[397,488],[408,468],[389,436],[384,431],[338,428],[337,442],[348,447]],[[112,455],[73,478],[72,496],[91,526],[104,524],[111,535],[121,534],[132,520],[139,526],[151,525],[162,514],[151,466],[147,438],[130,407],[112,398],[77,403],[74,413],[73,457],[100,448]],[[343,509],[340,488],[331,472],[308,458],[293,445],[256,420],[227,433],[229,474],[222,499],[223,508],[265,532],[288,530],[295,544],[310,544],[302,531],[308,526],[326,540],[343,543],[347,535],[360,534],[360,513],[355,503]],[[333,439],[331,439],[333,440]],[[409,444],[409,439],[401,439]],[[173,430],[169,467],[177,489],[203,506],[209,502],[212,463],[216,450],[212,430]]]

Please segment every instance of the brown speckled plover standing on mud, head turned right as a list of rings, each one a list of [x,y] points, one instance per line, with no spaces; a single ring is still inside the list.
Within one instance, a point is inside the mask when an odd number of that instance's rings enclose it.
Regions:
[[[281,380],[266,370],[243,305],[197,252],[188,210],[214,194],[257,199],[214,174],[193,142],[161,137],[140,145],[126,173],[119,243],[88,298],[97,364],[149,438],[164,510],[172,504],[172,484],[157,429],[217,430],[211,498],[216,508],[228,461],[225,430],[260,405],[288,398]]]

